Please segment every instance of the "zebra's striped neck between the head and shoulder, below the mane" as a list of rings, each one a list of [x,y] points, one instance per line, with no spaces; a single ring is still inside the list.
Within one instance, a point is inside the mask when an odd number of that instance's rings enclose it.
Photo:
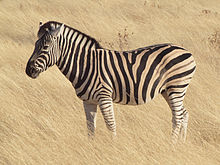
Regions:
[[[59,38],[59,47],[61,56],[57,66],[73,86],[79,88],[91,70],[97,42],[75,29],[65,27]]]

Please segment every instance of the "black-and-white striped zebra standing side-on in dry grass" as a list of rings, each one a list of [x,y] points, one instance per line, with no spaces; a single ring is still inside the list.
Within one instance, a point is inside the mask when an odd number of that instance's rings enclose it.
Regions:
[[[97,106],[116,135],[113,103],[140,105],[162,94],[172,111],[173,143],[185,141],[189,114],[184,96],[195,72],[192,54],[181,46],[156,44],[130,51],[105,49],[89,35],[63,23],[40,23],[26,74],[35,79],[57,65],[83,101],[89,137]]]

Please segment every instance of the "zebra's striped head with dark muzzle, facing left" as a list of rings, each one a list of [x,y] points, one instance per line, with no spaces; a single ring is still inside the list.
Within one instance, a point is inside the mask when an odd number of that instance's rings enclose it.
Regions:
[[[58,25],[57,25],[58,26]],[[64,24],[56,27],[53,24],[40,23],[38,40],[35,43],[34,52],[28,60],[26,74],[31,78],[37,78],[48,67],[53,66],[60,58],[59,39],[64,30]]]

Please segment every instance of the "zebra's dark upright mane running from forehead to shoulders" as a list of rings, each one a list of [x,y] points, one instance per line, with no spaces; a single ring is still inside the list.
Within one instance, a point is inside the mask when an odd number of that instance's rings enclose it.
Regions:
[[[38,31],[38,33],[37,33],[37,36],[38,36],[38,37],[43,36],[43,35],[47,32],[47,30],[52,30],[53,27],[57,28],[57,27],[59,27],[59,26],[61,26],[61,25],[62,25],[62,23],[56,22],[56,21],[46,22],[45,24],[43,24],[43,25],[40,27],[40,29],[39,29],[39,31]],[[68,27],[69,29],[72,29],[72,30],[78,32],[79,34],[84,35],[84,36],[87,37],[87,38],[89,38],[92,42],[94,42],[96,49],[102,48],[102,47],[100,46],[99,42],[98,42],[96,39],[94,39],[93,37],[91,37],[91,36],[89,36],[89,35],[87,35],[87,34],[85,34],[85,33],[82,33],[82,32],[80,32],[79,30],[74,29],[74,28],[72,28],[72,27],[70,27],[70,26],[68,26],[68,25],[64,25],[64,26],[65,26],[65,27]]]

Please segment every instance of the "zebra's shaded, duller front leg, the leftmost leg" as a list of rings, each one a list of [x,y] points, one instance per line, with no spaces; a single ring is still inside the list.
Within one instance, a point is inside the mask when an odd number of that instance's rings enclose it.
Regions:
[[[95,128],[96,128],[97,105],[90,104],[90,103],[84,101],[83,106],[84,106],[84,110],[86,113],[88,136],[93,137],[95,135]]]

